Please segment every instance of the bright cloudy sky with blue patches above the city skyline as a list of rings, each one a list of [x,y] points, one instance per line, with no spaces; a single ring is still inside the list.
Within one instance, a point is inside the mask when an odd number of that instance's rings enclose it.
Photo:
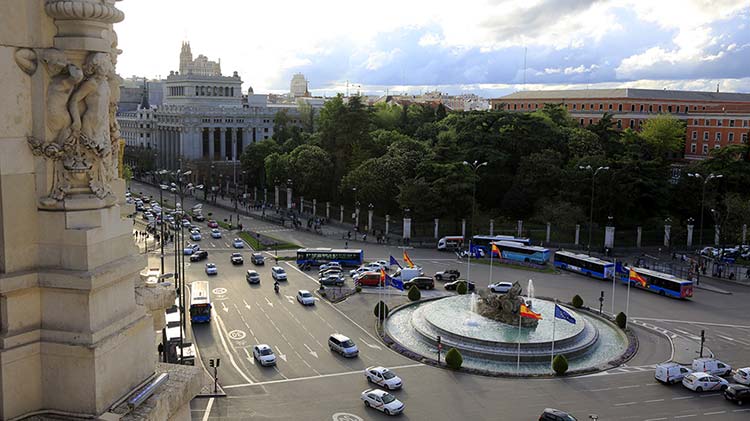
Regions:
[[[118,71],[166,76],[180,45],[243,89],[315,94],[647,87],[750,92],[750,0],[126,0]],[[525,65],[524,65],[525,63]],[[525,69],[525,71],[524,71]],[[525,84],[524,84],[525,82]]]

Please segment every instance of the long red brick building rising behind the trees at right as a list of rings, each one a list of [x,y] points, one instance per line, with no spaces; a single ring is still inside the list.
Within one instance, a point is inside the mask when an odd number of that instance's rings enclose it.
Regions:
[[[711,149],[747,142],[750,94],[658,89],[522,91],[490,100],[493,110],[531,112],[562,104],[581,126],[611,113],[620,129],[639,130],[643,121],[671,114],[686,122],[685,158],[704,159]]]

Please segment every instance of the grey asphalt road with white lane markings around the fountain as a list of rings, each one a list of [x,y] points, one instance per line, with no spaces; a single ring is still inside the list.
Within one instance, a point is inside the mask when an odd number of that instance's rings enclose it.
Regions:
[[[224,218],[225,212],[213,212],[216,218]],[[340,239],[249,218],[243,219],[243,224],[305,246],[343,246]],[[570,411],[579,419],[598,414],[600,420],[744,420],[750,415],[750,408],[729,404],[716,393],[698,394],[680,385],[662,386],[653,379],[654,364],[669,359],[674,344],[692,344],[691,350],[697,349],[696,339],[702,329],[706,331],[706,346],[718,358],[735,367],[750,365],[750,289],[745,287],[717,282],[712,285],[731,294],[696,290],[695,297],[686,301],[631,289],[628,305],[627,288],[615,285],[614,311],[628,307],[640,340],[639,352],[628,364],[582,377],[491,378],[425,366],[382,346],[373,329],[372,308],[377,294],[358,294],[336,305],[319,300],[315,306],[303,307],[294,295],[299,289],[314,290],[316,282],[294,265],[282,263],[289,280],[277,295],[270,277],[272,260],[258,269],[260,286],[248,285],[244,271],[253,265],[249,259],[244,266],[231,265],[229,255],[235,251],[229,247],[231,238],[227,233],[220,240],[201,241],[201,247],[209,250],[208,261],[218,265],[219,274],[209,280],[214,320],[193,327],[194,341],[206,366],[208,358],[222,359],[219,376],[228,396],[195,399],[191,404],[195,420],[384,418],[366,409],[359,399],[360,392],[369,387],[362,373],[369,365],[391,367],[404,379],[404,389],[395,392],[406,404],[403,419],[531,420],[537,419],[545,407]],[[368,260],[387,259],[389,255],[400,258],[402,253],[395,247],[369,243],[350,242],[349,246],[363,248]],[[428,274],[446,268],[468,272],[467,262],[458,262],[450,254],[424,249],[410,249],[408,253]],[[249,250],[244,255],[247,258]],[[151,258],[158,256],[152,254]],[[167,262],[169,266],[171,259]],[[188,281],[208,279],[203,263],[188,267]],[[579,294],[588,305],[597,307],[600,291],[604,291],[603,309],[612,311],[609,282],[507,267],[493,268],[492,278],[517,280],[524,287],[532,279],[537,296],[567,301]],[[471,279],[480,287],[487,285],[489,266],[472,264]],[[442,293],[440,288],[438,283],[438,289],[430,293]],[[387,301],[393,306],[405,300],[393,291]],[[327,337],[335,331],[357,342],[359,358],[344,359],[328,350]],[[276,367],[260,367],[248,357],[247,351],[256,343],[274,348],[279,359]]]

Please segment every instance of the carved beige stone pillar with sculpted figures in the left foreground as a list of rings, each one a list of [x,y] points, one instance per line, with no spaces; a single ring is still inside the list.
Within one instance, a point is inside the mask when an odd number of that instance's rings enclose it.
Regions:
[[[99,418],[161,369],[136,301],[147,259],[121,217],[123,19],[114,0],[0,6],[0,419]],[[180,374],[172,399],[159,391],[139,416],[185,408],[202,373]]]

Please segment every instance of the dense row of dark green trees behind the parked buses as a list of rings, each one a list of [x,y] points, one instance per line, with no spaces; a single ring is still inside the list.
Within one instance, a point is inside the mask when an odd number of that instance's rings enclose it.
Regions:
[[[274,137],[246,148],[249,185],[291,181],[295,194],[319,202],[372,203],[392,215],[408,208],[423,220],[467,217],[476,186],[478,214],[572,226],[588,220],[593,172],[608,167],[594,180],[594,219],[628,226],[697,220],[703,181],[685,174],[713,172],[723,178],[707,189],[706,220],[739,226],[750,219],[748,146],[683,163],[685,126],[670,115],[636,132],[616,130],[609,114],[580,127],[557,105],[449,113],[442,105],[366,106],[356,96],[307,115],[300,127],[279,113]],[[464,161],[487,165],[475,174]]]

